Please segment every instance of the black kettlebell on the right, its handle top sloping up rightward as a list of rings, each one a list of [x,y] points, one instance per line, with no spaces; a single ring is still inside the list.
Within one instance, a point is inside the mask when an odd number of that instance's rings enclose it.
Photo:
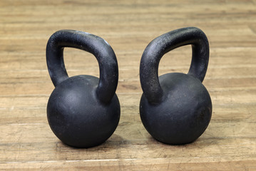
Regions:
[[[188,74],[166,73],[158,78],[165,53],[192,45]],[[140,118],[148,133],[160,142],[179,145],[193,142],[210,123],[212,102],[202,82],[208,68],[209,44],[199,28],[180,28],[155,38],[140,61]]]

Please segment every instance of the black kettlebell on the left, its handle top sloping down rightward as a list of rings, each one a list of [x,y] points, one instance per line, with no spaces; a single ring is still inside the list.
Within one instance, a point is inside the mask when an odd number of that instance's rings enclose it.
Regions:
[[[69,78],[63,61],[65,47],[79,48],[96,56],[100,78]],[[55,86],[47,105],[53,133],[73,147],[92,147],[105,142],[116,130],[120,118],[116,95],[118,63],[111,46],[90,33],[61,30],[48,40],[46,61]]]

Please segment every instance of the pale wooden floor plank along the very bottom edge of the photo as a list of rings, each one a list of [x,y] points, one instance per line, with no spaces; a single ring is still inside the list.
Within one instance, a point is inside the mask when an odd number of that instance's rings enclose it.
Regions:
[[[233,161],[233,162],[183,162],[173,163],[169,159],[160,160],[104,160],[98,165],[95,160],[86,161],[63,161],[63,162],[32,162],[32,163],[11,163],[0,164],[4,170],[255,170],[252,160]],[[218,166],[218,167],[217,167]]]

